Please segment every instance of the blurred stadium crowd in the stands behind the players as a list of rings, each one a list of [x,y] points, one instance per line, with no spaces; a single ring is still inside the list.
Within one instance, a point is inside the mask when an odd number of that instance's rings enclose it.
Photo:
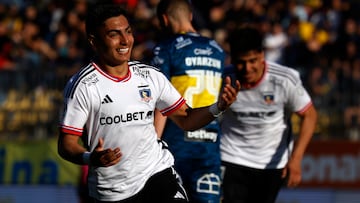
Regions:
[[[65,82],[91,58],[84,16],[95,0],[0,0],[0,140],[57,136]],[[162,37],[158,0],[113,0],[131,16],[133,59]],[[360,139],[360,1],[192,0],[194,26],[225,50],[235,26],[266,35],[266,57],[300,71],[319,112],[315,138]],[[229,61],[227,61],[229,63]],[[297,117],[293,117],[297,132]]]

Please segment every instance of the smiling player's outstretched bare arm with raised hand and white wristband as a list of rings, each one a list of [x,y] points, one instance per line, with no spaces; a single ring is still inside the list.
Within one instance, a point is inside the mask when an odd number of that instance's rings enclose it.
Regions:
[[[231,86],[231,79],[225,79],[225,85],[216,103],[219,111],[225,111],[235,100],[237,92],[240,90],[240,83],[236,81],[236,87]],[[181,129],[186,131],[197,130],[212,120],[214,115],[210,112],[211,106],[191,109],[184,104],[177,111],[172,113],[169,118],[174,121]]]

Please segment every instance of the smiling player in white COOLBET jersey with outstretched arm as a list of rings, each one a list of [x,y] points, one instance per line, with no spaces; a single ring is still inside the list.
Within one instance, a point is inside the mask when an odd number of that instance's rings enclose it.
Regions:
[[[201,128],[235,101],[239,82],[233,88],[227,78],[218,102],[191,109],[161,72],[130,61],[134,37],[119,5],[90,7],[86,33],[95,58],[64,89],[60,156],[89,165],[95,202],[187,202],[174,158],[157,139],[153,112],[185,130]],[[84,132],[89,151],[79,142]]]

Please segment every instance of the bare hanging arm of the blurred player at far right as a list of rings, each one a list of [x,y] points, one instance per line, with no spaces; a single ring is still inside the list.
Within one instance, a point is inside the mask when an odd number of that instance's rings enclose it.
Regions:
[[[288,187],[295,187],[301,182],[301,162],[315,131],[317,121],[317,112],[314,106],[311,106],[303,114],[298,115],[302,118],[299,137],[295,142],[290,160],[283,171],[283,177],[288,175]]]

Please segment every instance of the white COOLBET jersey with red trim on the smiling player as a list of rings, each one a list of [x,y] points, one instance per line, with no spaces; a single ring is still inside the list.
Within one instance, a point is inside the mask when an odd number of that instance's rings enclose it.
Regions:
[[[136,194],[151,175],[174,164],[157,140],[154,109],[169,115],[185,100],[154,67],[136,61],[128,66],[128,75],[117,78],[90,63],[64,91],[62,131],[81,136],[86,129],[90,151],[103,138],[104,149],[119,147],[122,152],[114,166],[90,166],[90,195],[102,201]]]

